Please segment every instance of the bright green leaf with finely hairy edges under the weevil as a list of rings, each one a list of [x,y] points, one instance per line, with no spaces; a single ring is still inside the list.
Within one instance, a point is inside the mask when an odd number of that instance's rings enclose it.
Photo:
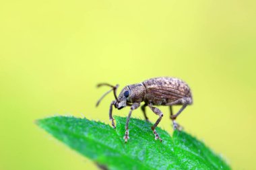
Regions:
[[[154,140],[152,124],[131,119],[125,144],[126,118],[115,117],[117,129],[102,123],[57,116],[38,120],[38,126],[75,151],[108,169],[230,169],[205,144],[186,132],[171,137],[156,128],[162,142]]]

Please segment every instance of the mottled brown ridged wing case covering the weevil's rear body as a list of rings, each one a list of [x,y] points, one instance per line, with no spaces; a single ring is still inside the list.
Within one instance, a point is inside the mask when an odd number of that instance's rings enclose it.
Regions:
[[[191,91],[187,83],[181,79],[172,77],[158,77],[142,82],[146,87],[148,97],[166,99],[166,102],[175,101],[184,97],[191,97]]]

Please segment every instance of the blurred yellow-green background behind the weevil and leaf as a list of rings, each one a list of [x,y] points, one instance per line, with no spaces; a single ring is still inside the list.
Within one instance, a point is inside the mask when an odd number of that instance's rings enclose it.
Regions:
[[[0,169],[96,169],[34,120],[69,114],[109,123],[113,95],[95,108],[108,89],[96,83],[159,76],[191,86],[194,104],[178,119],[187,132],[233,169],[255,169],[255,9],[237,0],[1,1]],[[172,132],[161,109],[160,126]]]

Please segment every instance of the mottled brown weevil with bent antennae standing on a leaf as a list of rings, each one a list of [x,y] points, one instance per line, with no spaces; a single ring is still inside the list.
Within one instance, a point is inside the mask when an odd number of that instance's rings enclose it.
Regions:
[[[109,119],[112,122],[113,128],[115,128],[114,118],[112,116],[113,106],[118,110],[125,108],[126,106],[130,106],[130,111],[127,116],[126,124],[125,124],[125,136],[123,137],[125,142],[129,139],[129,120],[131,118],[131,113],[133,110],[139,108],[140,103],[144,101],[144,104],[141,105],[141,110],[143,115],[148,121],[148,117],[146,115],[146,106],[148,106],[154,114],[158,115],[159,118],[156,120],[155,124],[151,127],[155,139],[160,140],[159,134],[156,132],[156,126],[162,120],[164,114],[155,106],[157,105],[168,105],[170,107],[170,119],[172,120],[173,128],[179,129],[179,124],[175,122],[177,116],[183,112],[183,110],[187,107],[187,105],[191,105],[193,103],[192,94],[189,86],[185,81],[182,81],[178,78],[173,77],[157,77],[153,79],[148,79],[141,83],[127,85],[123,87],[119,96],[117,97],[117,88],[119,85],[110,85],[108,83],[100,83],[98,87],[103,85],[111,87],[109,91],[104,93],[102,97],[96,103],[96,106],[99,105],[100,101],[111,91],[114,92],[115,100],[110,103],[109,108]],[[181,109],[177,112],[177,114],[172,113],[172,105],[182,105]]]

